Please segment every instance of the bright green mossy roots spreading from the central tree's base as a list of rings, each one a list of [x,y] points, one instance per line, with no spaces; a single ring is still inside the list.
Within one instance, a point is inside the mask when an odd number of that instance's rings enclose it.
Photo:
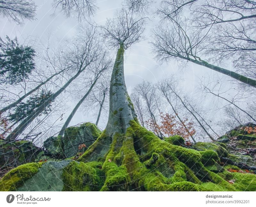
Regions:
[[[101,191],[237,190],[221,173],[213,173],[205,167],[220,161],[216,152],[172,145],[135,121],[130,125],[125,135],[116,133],[108,137],[103,132],[77,160],[102,162],[104,184],[99,188]],[[108,151],[103,155],[106,144],[109,144]]]

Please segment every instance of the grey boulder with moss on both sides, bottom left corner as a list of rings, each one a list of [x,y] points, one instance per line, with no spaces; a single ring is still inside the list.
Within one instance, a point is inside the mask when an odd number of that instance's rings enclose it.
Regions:
[[[27,163],[12,169],[0,181],[0,191],[94,191],[104,182],[103,163],[59,162]],[[102,183],[103,185],[103,183]]]

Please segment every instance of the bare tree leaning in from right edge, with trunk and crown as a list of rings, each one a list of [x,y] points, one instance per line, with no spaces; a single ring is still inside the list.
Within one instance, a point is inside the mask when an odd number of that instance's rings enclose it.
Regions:
[[[189,36],[187,33],[187,26],[184,25],[183,27],[182,24],[184,23],[173,21],[171,28],[167,25],[162,25],[154,30],[151,44],[157,59],[168,60],[172,57],[177,60],[182,59],[190,61],[228,75],[229,77],[247,85],[256,87],[255,80],[234,71],[210,64],[201,59],[201,57],[198,56],[198,53],[202,52],[204,48],[202,48],[200,44],[204,41],[209,31],[207,33],[200,33],[197,30],[193,31],[191,29]]]

